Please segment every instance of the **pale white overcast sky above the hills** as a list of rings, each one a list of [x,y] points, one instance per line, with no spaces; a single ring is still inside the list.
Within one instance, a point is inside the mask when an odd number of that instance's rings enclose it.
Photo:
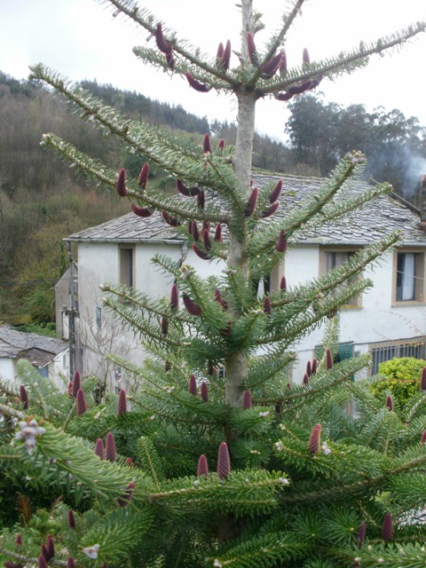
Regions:
[[[214,55],[219,42],[230,39],[239,47],[240,13],[236,1],[140,0],[179,38],[200,45]],[[262,48],[268,31],[280,23],[288,0],[254,0],[264,13],[266,29],[256,36]],[[311,59],[337,54],[344,48],[389,34],[410,22],[426,20],[426,0],[310,0],[290,30],[286,52],[288,66],[299,65],[304,47]],[[214,92],[191,90],[185,79],[145,67],[132,53],[133,45],[146,43],[146,32],[122,17],[114,18],[107,3],[97,0],[0,0],[0,70],[27,78],[28,66],[38,62],[70,79],[96,79],[115,87],[138,91],[152,99],[180,104],[209,120],[235,119],[235,101]],[[151,44],[154,44],[151,40]],[[235,56],[233,56],[235,57]],[[236,62],[236,59],[233,59]],[[232,61],[232,62],[233,62]],[[406,118],[418,117],[426,126],[424,63],[426,35],[392,51],[375,56],[367,69],[321,83],[325,102],[343,106],[364,104],[367,110],[398,108]],[[284,138],[288,118],[285,103],[261,101],[256,127],[273,138]]]

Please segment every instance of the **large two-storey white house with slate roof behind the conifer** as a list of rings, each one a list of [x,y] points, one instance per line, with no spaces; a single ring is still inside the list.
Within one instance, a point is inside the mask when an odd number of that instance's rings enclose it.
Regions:
[[[275,216],[284,216],[312,195],[321,179],[312,177],[281,177],[283,191]],[[255,185],[276,182],[279,177],[254,176]],[[366,183],[351,185],[351,195],[366,190]],[[364,277],[374,280],[375,287],[357,298],[341,312],[339,356],[369,352],[375,373],[378,363],[392,357],[425,354],[426,290],[425,253],[426,233],[420,223],[420,211],[402,202],[397,196],[381,196],[362,209],[346,215],[339,223],[316,227],[307,225],[298,235],[296,246],[288,249],[285,261],[272,277],[272,287],[278,286],[285,273],[288,288],[319,276],[351,253],[377,241],[391,230],[404,234],[403,246],[386,253],[379,265],[367,268]],[[111,322],[102,307],[104,282],[124,283],[154,297],[170,296],[171,282],[157,272],[150,259],[161,252],[173,259],[185,256],[207,276],[219,272],[222,261],[209,263],[186,248],[186,243],[172,227],[156,213],[141,218],[133,213],[116,218],[68,237],[78,245],[78,328],[77,348],[83,349],[83,373],[96,372],[106,351],[116,351],[138,363],[144,357],[134,336]],[[109,332],[106,330],[109,329]],[[104,334],[104,335],[103,335]],[[322,331],[316,329],[295,346],[298,362],[292,378],[300,382],[306,360],[312,359],[321,342]],[[122,378],[121,369],[115,377]]]

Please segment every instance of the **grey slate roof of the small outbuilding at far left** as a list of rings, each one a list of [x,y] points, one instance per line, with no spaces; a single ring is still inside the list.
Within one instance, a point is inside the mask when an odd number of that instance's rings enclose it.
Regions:
[[[0,326],[0,358],[28,359],[36,367],[44,367],[67,349],[68,344],[60,339]]]

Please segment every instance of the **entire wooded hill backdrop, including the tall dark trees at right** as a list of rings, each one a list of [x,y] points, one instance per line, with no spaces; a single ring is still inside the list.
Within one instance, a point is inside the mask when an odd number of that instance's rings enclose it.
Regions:
[[[202,143],[213,138],[235,142],[236,124],[208,122],[182,106],[147,99],[112,85],[80,83],[82,88],[137,122],[172,130]],[[417,200],[418,180],[426,172],[426,132],[414,117],[383,108],[367,113],[363,105],[347,108],[304,95],[290,106],[283,124],[288,144],[255,137],[254,167],[277,173],[324,176],[348,150],[367,154],[366,177],[388,180],[410,201]],[[54,131],[83,152],[117,171],[138,174],[143,156],[129,154],[105,138],[90,122],[81,122],[58,95],[34,81],[19,81],[0,71],[0,321],[49,325],[54,318],[53,286],[67,268],[63,239],[128,212],[103,190],[57,156],[43,152],[43,132]],[[173,191],[173,181],[151,169],[151,184]]]

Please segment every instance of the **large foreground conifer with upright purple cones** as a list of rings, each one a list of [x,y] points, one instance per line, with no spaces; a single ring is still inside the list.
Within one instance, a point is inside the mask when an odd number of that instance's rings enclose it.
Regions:
[[[140,366],[112,355],[143,384],[133,396],[109,393],[98,405],[91,380],[75,375],[75,385],[61,393],[24,363],[21,385],[2,385],[2,471],[20,481],[24,497],[41,488],[50,495],[49,509],[31,517],[27,507],[19,530],[4,529],[4,565],[424,565],[421,377],[405,406],[375,398],[365,382],[351,381],[366,357],[333,364],[338,326],[328,319],[370,286],[354,276],[399,236],[385,235],[309,285],[287,289],[282,280],[264,297],[255,286],[304,225],[333,221],[390,186],[348,198],[345,184],[364,162],[354,151],[310,201],[274,218],[280,182],[253,187],[250,177],[258,99],[285,104],[326,77],[366,65],[369,55],[404,43],[426,23],[327,60],[312,61],[305,50],[300,65],[288,67],[282,46],[304,0],[293,2],[263,46],[256,42],[261,17],[251,0],[241,0],[241,46],[236,53],[219,43],[213,57],[131,0],[108,1],[154,36],[135,50],[140,59],[183,77],[200,97],[211,90],[236,96],[236,145],[213,143],[208,134],[201,146],[190,145],[124,120],[37,65],[34,77],[149,162],[133,179],[53,133],[43,146],[129,199],[140,223],[162,215],[205,262],[225,259],[226,269],[202,280],[192,266],[158,255],[154,264],[174,280],[169,298],[104,286],[106,305],[152,355]],[[176,193],[149,187],[150,163],[170,173]],[[288,350],[327,320],[323,357],[307,361],[303,383],[288,384]]]

